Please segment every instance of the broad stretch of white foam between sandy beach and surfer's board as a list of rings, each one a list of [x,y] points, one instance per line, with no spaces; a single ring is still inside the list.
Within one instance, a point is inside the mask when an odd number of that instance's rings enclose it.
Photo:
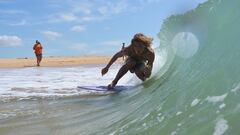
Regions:
[[[77,86],[107,85],[114,79],[120,66],[113,65],[103,77],[103,66],[0,69],[0,99],[85,94],[77,90]],[[124,85],[126,80],[122,78],[118,84]]]

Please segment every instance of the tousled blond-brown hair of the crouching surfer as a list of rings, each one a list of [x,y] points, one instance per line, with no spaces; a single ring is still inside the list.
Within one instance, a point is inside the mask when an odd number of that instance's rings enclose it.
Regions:
[[[132,45],[143,45],[145,47],[151,47],[153,38],[145,36],[143,33],[137,33],[134,35],[131,44]]]

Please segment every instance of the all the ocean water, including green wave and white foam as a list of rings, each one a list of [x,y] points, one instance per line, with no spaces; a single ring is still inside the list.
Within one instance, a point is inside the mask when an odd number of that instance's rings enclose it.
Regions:
[[[240,1],[209,0],[167,18],[152,77],[120,93],[107,85],[121,65],[0,70],[1,135],[239,135]]]

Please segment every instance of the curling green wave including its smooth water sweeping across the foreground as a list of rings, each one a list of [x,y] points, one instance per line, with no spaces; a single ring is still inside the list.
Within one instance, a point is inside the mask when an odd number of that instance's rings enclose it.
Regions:
[[[103,97],[22,103],[34,106],[34,115],[27,110],[34,124],[20,121],[16,129],[22,134],[239,133],[239,7],[239,0],[209,0],[170,16],[158,33],[161,43],[151,79]]]

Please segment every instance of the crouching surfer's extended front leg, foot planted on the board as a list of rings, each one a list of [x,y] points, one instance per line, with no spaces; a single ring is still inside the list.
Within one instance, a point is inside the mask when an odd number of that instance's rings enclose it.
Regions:
[[[115,79],[112,81],[111,84],[108,85],[108,88],[109,89],[112,89],[116,84],[117,82],[119,81],[119,79],[121,79],[127,72],[128,70],[134,68],[136,65],[136,61],[134,60],[128,60],[126,62],[126,64],[124,64],[118,71]]]

